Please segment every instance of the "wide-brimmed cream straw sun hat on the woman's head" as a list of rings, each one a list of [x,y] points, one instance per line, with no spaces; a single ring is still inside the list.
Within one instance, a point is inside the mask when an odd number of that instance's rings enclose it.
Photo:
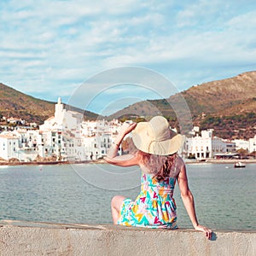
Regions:
[[[149,122],[140,122],[132,131],[135,146],[146,153],[174,154],[183,146],[185,137],[172,131],[168,121],[155,116]]]

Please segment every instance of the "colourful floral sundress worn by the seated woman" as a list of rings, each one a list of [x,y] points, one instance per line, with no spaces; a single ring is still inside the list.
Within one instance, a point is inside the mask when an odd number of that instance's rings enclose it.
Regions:
[[[158,181],[153,174],[142,174],[141,192],[135,201],[126,198],[118,224],[125,226],[177,229],[176,204],[172,198],[176,177]]]

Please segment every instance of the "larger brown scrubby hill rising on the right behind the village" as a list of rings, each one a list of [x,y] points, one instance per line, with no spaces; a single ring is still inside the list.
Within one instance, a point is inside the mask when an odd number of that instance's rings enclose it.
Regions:
[[[248,139],[256,134],[256,72],[195,85],[166,99],[137,102],[111,118],[163,114],[178,128],[171,105],[182,104],[181,99],[188,104],[193,125],[201,130],[212,128],[214,135],[227,139]]]

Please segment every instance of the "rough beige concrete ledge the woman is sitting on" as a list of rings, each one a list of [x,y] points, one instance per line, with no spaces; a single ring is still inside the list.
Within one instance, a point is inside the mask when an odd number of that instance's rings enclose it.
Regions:
[[[0,223],[0,255],[256,255],[255,231],[216,230],[212,241],[195,230],[115,225]]]

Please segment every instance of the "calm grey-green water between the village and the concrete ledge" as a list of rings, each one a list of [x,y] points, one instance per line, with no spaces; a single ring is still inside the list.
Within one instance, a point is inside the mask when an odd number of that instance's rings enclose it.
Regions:
[[[256,230],[256,164],[187,165],[201,224],[212,230]],[[140,171],[106,164],[0,166],[0,219],[56,223],[112,223],[113,195],[135,198]],[[192,228],[178,186],[180,228]]]

